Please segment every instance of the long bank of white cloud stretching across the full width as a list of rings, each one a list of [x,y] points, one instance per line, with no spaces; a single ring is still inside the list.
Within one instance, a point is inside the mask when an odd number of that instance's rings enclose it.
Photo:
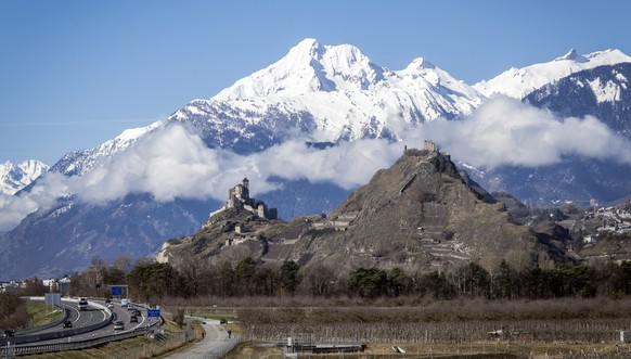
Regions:
[[[404,131],[401,142],[359,140],[325,150],[295,139],[265,152],[241,156],[230,150],[208,149],[183,126],[168,126],[140,139],[133,146],[102,163],[83,177],[47,174],[30,193],[0,197],[0,231],[14,228],[37,208],[70,193],[80,201],[101,203],[128,193],[152,193],[157,201],[214,197],[243,177],[253,194],[276,189],[268,178],[334,182],[345,189],[366,183],[381,168],[391,166],[403,144],[421,148],[437,142],[454,159],[478,166],[546,166],[566,156],[616,161],[631,165],[629,140],[594,117],[556,118],[545,110],[508,98],[495,98],[463,120],[435,120]]]

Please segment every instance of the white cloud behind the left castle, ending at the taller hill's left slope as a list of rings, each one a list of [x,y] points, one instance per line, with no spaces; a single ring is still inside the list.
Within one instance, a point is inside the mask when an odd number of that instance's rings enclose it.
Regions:
[[[141,139],[112,162],[73,178],[69,188],[83,201],[102,202],[130,192],[152,193],[157,201],[176,197],[226,200],[228,189],[244,177],[255,193],[273,190],[268,178],[332,181],[351,189],[365,183],[379,168],[401,153],[400,145],[385,140],[343,143],[326,150],[307,146],[297,139],[265,152],[241,156],[229,150],[208,149],[182,126],[170,126]]]

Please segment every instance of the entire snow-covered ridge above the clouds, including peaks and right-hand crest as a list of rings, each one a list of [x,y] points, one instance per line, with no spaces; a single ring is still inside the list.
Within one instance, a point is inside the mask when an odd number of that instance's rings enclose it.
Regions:
[[[262,151],[296,136],[317,142],[399,140],[410,126],[466,116],[492,93],[520,99],[568,74],[623,62],[631,57],[619,50],[587,55],[571,50],[554,61],[512,68],[471,87],[423,57],[391,70],[372,63],[353,46],[305,39],[278,62],[214,98],[193,100],[167,120],[126,130],[99,148],[66,154],[53,170],[82,175],[172,123],[196,128],[209,146],[240,153]],[[601,99],[616,99],[605,90],[600,90]]]

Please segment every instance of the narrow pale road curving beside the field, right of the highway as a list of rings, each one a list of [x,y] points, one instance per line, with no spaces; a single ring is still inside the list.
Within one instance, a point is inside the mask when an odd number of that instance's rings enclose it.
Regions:
[[[173,352],[168,356],[169,359],[197,359],[197,358],[220,358],[228,352],[236,344],[234,338],[228,338],[228,332],[219,324],[218,320],[191,318],[202,322],[202,326],[206,331],[205,337],[198,343],[193,343],[191,346],[181,351]]]

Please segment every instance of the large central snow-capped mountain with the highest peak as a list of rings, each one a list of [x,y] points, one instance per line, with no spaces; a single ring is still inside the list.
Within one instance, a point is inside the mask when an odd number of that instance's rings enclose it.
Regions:
[[[401,123],[416,126],[471,114],[485,97],[427,60],[401,70],[373,64],[349,44],[313,39],[222,90],[195,100],[169,120],[192,123],[209,144],[260,151],[296,130],[313,141],[400,139]]]

